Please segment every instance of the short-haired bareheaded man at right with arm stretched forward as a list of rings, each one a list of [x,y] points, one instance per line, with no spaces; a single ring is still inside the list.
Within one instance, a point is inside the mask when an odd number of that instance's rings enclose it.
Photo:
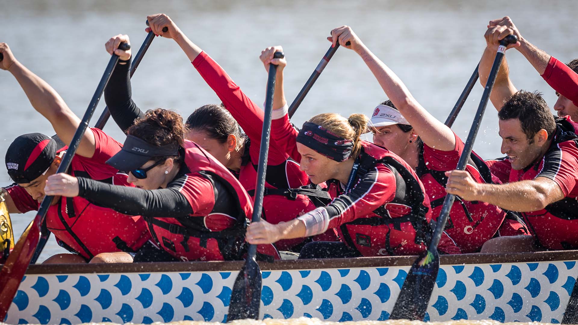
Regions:
[[[507,100],[498,117],[510,182],[483,184],[466,171],[453,170],[446,173],[446,190],[464,200],[522,212],[533,239],[494,238],[482,252],[578,248],[578,124],[568,116],[555,118],[539,93],[527,91]]]

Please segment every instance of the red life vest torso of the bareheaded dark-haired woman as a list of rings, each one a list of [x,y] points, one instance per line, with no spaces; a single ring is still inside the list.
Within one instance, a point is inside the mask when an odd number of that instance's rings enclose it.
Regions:
[[[249,139],[247,139],[247,141],[249,141]],[[247,142],[244,149],[245,152],[249,152],[249,145],[250,143]],[[291,177],[290,175],[299,174],[302,174],[302,171],[299,170],[298,163],[288,159],[285,163],[285,175],[287,176],[284,175],[283,177]],[[247,193],[251,196],[251,200],[254,200],[255,186],[257,184],[257,165],[254,165],[250,159],[247,159],[247,162],[241,166],[239,182],[243,185],[243,188],[247,190]],[[297,182],[298,181],[294,181],[293,183]],[[262,218],[273,224],[290,221],[317,207],[326,206],[331,201],[329,193],[318,185],[305,185],[299,188],[283,189],[276,188],[265,181],[264,195]],[[333,230],[330,229],[328,233],[333,233]],[[281,251],[295,251],[299,244],[311,240],[312,238],[280,240],[275,243],[275,246]],[[334,236],[328,238],[328,240],[337,240],[337,238]],[[298,251],[299,250],[297,250],[297,252]]]

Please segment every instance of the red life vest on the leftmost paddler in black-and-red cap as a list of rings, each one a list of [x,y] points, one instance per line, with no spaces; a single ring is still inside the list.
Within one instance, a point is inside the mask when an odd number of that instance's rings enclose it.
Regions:
[[[90,178],[82,170],[72,170],[71,174]],[[124,174],[116,174],[105,181],[123,184],[126,178]],[[61,197],[51,206],[46,213],[46,227],[54,233],[59,245],[87,260],[99,253],[135,252],[150,238],[139,216],[96,206],[80,196]]]

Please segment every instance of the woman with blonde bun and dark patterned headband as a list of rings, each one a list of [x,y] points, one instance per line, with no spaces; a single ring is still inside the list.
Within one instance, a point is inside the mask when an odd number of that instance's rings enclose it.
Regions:
[[[251,244],[323,233],[335,227],[341,242],[311,242],[299,258],[416,255],[431,238],[431,209],[423,184],[412,168],[392,152],[360,139],[368,118],[319,114],[297,131],[277,125],[277,139],[301,161],[313,183],[327,181],[333,201],[297,219],[272,225],[251,224]],[[298,155],[298,156],[297,156]],[[459,253],[445,236],[444,253]]]

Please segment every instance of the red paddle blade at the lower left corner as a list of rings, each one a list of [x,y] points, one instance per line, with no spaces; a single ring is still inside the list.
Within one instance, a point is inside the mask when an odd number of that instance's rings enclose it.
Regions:
[[[36,251],[36,245],[40,240],[39,225],[40,215],[36,215],[34,222],[30,223],[24,231],[14,246],[14,250],[8,256],[6,264],[0,270],[0,288],[2,288],[0,291],[0,322],[3,322],[4,317],[6,317],[32,255]]]

